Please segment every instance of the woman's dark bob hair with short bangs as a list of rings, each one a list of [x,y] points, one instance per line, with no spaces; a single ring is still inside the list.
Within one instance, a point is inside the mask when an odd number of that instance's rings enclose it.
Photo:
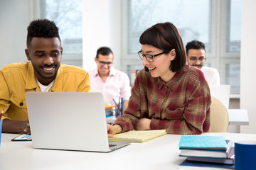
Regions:
[[[157,47],[166,53],[175,49],[176,57],[169,67],[172,72],[177,72],[186,64],[186,53],[181,35],[172,23],[157,23],[151,26],[142,33],[139,42],[142,45]]]

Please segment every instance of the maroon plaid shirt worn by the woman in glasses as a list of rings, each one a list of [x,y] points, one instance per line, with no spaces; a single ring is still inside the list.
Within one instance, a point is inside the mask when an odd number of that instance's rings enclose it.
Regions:
[[[151,119],[151,130],[171,134],[201,134],[210,128],[210,89],[201,70],[186,66],[168,82],[142,69],[129,106],[115,124],[123,132],[136,129],[139,118]]]

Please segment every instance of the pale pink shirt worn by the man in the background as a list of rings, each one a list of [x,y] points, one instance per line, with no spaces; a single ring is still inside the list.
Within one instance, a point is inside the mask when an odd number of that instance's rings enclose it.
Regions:
[[[131,96],[131,86],[129,77],[124,72],[111,67],[110,76],[105,82],[102,81],[97,69],[89,72],[91,82],[91,92],[102,92],[105,104],[115,105],[114,100],[118,103],[119,97],[123,97],[128,101]]]

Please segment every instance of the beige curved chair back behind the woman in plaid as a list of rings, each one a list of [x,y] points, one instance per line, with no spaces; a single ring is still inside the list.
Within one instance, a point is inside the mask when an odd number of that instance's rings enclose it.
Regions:
[[[228,132],[228,110],[223,103],[211,96],[210,105],[210,132]]]

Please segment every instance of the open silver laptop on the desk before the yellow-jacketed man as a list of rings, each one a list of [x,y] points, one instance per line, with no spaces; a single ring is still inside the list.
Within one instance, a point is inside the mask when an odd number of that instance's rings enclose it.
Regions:
[[[111,152],[129,145],[109,142],[104,99],[93,92],[26,92],[33,147]]]

